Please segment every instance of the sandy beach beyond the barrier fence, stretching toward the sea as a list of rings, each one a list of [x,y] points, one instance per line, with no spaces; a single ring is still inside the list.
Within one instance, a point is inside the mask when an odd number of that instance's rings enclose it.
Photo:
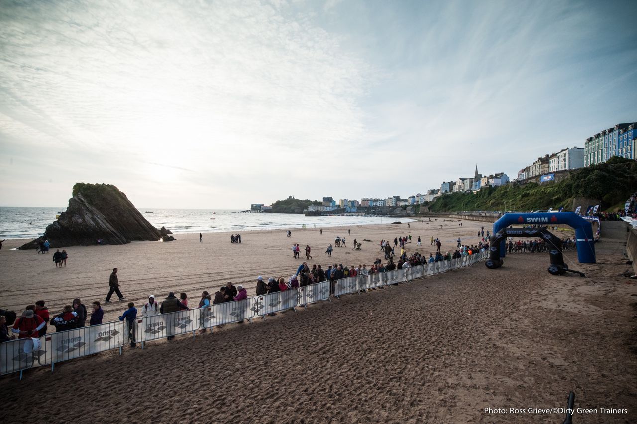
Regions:
[[[381,239],[412,235],[408,252],[435,253],[431,237],[439,237],[443,252],[455,249],[457,237],[462,243],[477,244],[478,230],[490,225],[479,222],[413,222],[406,224],[359,225],[323,229],[290,229],[292,237],[284,230],[264,230],[241,233],[241,243],[231,243],[231,233],[176,234],[175,241],[133,242],[119,246],[74,246],[67,248],[67,266],[56,269],[52,262],[55,250],[38,254],[34,250],[12,251],[24,241],[7,240],[0,252],[0,264],[4,272],[0,276],[0,306],[22,311],[27,304],[44,299],[52,313],[61,311],[75,297],[90,311],[93,300],[103,301],[108,293],[108,277],[113,268],[118,268],[122,293],[127,301],[140,305],[154,294],[163,300],[168,292],[185,292],[199,302],[203,290],[214,293],[227,281],[242,284],[248,295],[255,294],[257,276],[285,277],[286,281],[305,260],[304,247],[311,247],[312,259],[308,264],[327,265],[367,264],[383,258],[380,252]],[[390,222],[390,221],[389,221]],[[442,226],[442,228],[441,228]],[[347,230],[352,230],[348,236]],[[416,246],[420,235],[422,246]],[[336,236],[345,237],[347,247],[334,247],[332,258],[325,253]],[[353,250],[354,239],[362,243],[362,250]],[[371,242],[363,241],[364,239]],[[292,258],[292,243],[301,248],[300,260]],[[396,250],[399,255],[400,248]],[[117,295],[113,295],[117,300]],[[196,306],[196,305],[195,305]],[[125,302],[103,305],[104,322],[117,320],[125,309]]]

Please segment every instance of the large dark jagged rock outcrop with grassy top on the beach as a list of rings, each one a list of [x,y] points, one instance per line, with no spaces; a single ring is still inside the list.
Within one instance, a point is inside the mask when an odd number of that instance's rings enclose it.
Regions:
[[[35,249],[48,239],[51,248],[97,244],[126,244],[131,241],[157,241],[162,234],[145,220],[126,195],[111,184],[76,183],[69,206],[44,236],[20,249]]]

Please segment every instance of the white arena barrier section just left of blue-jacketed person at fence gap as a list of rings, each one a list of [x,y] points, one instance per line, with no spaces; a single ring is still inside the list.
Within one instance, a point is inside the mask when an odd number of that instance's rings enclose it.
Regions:
[[[69,359],[118,349],[127,341],[128,323],[125,320],[115,321],[48,333],[40,337],[40,351],[35,355],[40,365],[53,365]]]

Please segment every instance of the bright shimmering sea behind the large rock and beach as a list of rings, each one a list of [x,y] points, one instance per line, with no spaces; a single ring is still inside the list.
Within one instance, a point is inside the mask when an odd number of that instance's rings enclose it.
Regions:
[[[380,216],[304,216],[285,213],[236,213],[240,209],[139,208],[158,229],[173,233],[242,232],[413,222],[409,218]],[[0,239],[33,239],[41,236],[66,208],[0,207]]]

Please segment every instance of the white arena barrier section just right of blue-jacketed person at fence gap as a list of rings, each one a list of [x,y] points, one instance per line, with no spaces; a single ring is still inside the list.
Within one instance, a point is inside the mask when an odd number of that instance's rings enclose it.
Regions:
[[[194,333],[199,329],[201,309],[187,309],[152,316],[137,318],[136,337],[141,342],[141,348],[147,341],[178,336],[179,334]]]

